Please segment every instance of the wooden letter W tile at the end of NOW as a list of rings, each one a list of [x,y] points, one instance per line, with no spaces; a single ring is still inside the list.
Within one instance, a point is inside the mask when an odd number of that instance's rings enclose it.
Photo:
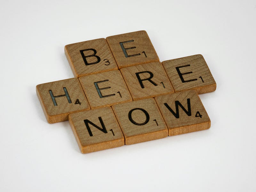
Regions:
[[[195,90],[155,97],[168,127],[168,135],[209,129],[211,120]]]

